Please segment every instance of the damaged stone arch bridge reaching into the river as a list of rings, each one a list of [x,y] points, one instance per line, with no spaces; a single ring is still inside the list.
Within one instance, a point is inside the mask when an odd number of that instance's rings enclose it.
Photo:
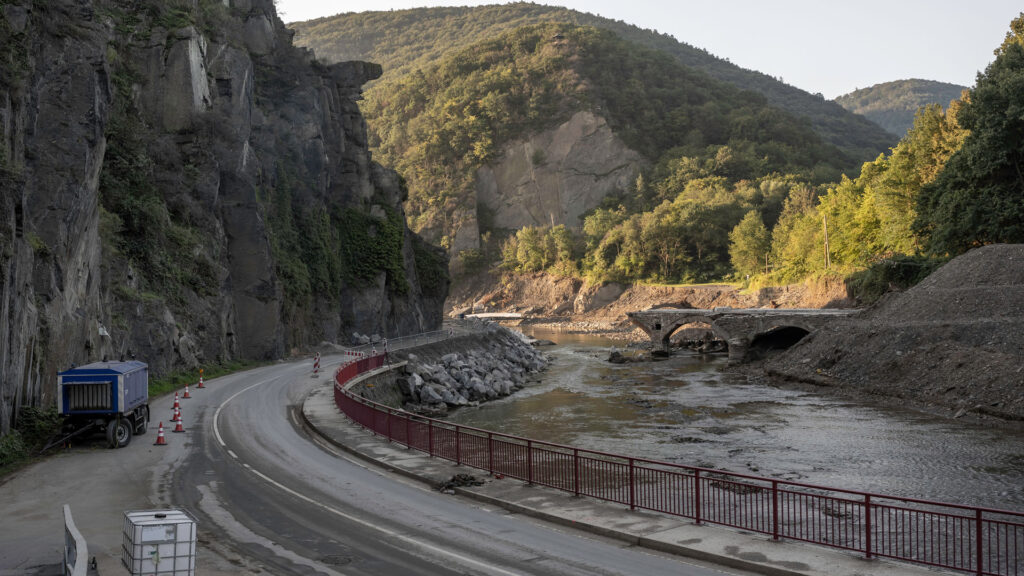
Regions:
[[[859,310],[838,308],[656,308],[627,313],[634,324],[643,329],[651,343],[669,348],[672,334],[687,324],[709,324],[715,336],[729,344],[729,363],[742,362],[751,344],[759,338],[795,332],[796,339],[821,326],[859,313]]]

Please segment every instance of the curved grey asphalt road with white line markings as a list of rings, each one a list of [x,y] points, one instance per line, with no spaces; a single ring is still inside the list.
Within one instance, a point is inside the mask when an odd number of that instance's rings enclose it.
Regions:
[[[313,386],[329,384],[340,358],[325,360],[319,379],[310,378],[308,362],[278,364],[211,380],[181,401],[191,449],[159,499],[195,511],[201,547],[218,549],[240,569],[332,576],[743,574],[441,496],[349,459],[306,436],[296,419]],[[154,420],[170,414],[170,404],[157,401]]]

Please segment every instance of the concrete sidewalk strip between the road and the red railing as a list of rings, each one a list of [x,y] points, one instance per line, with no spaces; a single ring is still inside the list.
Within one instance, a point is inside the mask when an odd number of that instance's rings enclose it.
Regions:
[[[467,470],[465,465],[455,465],[367,434],[338,413],[330,388],[315,390],[305,400],[302,419],[310,430],[334,446],[427,486],[436,487]],[[691,567],[694,563],[711,562],[779,576],[950,574],[888,560],[865,561],[840,550],[785,539],[775,541],[751,532],[632,510],[628,506],[581,498],[539,484],[524,485],[502,476],[486,476],[481,480],[480,485],[454,488],[454,496],[450,497],[470,498],[487,506],[560,525],[561,530],[581,530],[631,546],[693,559],[688,563]]]

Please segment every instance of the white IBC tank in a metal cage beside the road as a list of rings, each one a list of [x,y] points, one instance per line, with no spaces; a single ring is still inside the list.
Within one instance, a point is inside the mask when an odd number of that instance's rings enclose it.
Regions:
[[[126,511],[121,562],[132,576],[195,576],[196,521],[184,510]]]

